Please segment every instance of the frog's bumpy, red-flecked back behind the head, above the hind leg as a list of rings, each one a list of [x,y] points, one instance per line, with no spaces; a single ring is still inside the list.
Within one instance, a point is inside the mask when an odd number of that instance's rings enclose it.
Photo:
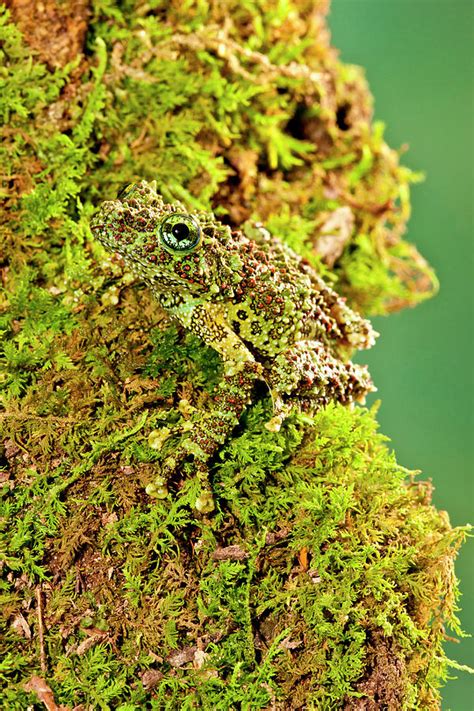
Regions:
[[[312,267],[265,229],[241,233],[242,281],[228,318],[250,350],[274,357],[293,343],[315,339],[330,350],[370,347],[374,331]]]

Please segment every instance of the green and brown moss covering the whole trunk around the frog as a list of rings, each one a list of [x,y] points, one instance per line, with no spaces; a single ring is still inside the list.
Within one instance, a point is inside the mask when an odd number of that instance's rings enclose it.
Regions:
[[[39,676],[71,707],[435,708],[467,529],[375,411],[270,433],[263,389],[213,462],[215,515],[186,471],[151,502],[220,361],[88,228],[97,200],[157,179],[265,220],[366,313],[430,295],[402,238],[420,176],[372,124],[325,3],[96,0],[82,51],[56,54],[18,7],[0,10],[6,707],[38,705]]]

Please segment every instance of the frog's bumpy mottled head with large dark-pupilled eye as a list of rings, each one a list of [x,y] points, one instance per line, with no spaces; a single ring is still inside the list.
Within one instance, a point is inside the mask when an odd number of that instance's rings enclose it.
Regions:
[[[220,294],[239,279],[230,229],[211,213],[165,203],[154,182],[128,185],[104,202],[91,229],[157,294]]]

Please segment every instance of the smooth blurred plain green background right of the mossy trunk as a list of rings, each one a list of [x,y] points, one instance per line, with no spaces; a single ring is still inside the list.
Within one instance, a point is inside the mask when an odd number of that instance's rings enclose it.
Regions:
[[[379,420],[398,460],[421,469],[434,503],[453,524],[473,520],[473,49],[471,0],[333,0],[333,44],[365,67],[375,115],[403,162],[426,172],[413,188],[408,239],[436,268],[439,295],[416,309],[374,319],[367,354],[382,399]],[[364,354],[365,356],[365,354]],[[471,562],[470,562],[471,561]],[[463,628],[474,632],[472,542],[457,562]],[[474,641],[447,643],[473,665]],[[443,709],[474,709],[473,677],[443,690]]]

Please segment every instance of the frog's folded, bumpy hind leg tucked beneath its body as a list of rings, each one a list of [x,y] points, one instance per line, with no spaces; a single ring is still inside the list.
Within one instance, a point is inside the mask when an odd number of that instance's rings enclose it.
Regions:
[[[280,428],[294,404],[316,412],[331,401],[363,401],[375,390],[364,366],[335,358],[319,341],[299,341],[279,353],[269,369],[274,415],[266,423]]]

